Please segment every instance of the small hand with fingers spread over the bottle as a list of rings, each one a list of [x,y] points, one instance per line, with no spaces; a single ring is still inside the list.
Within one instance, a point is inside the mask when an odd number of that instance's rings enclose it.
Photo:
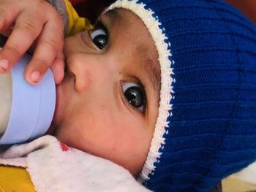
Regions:
[[[64,77],[64,22],[59,13],[42,0],[0,0],[0,33],[9,36],[0,51],[0,72],[8,72],[32,47],[34,54],[25,70],[34,85],[50,67],[56,84]]]

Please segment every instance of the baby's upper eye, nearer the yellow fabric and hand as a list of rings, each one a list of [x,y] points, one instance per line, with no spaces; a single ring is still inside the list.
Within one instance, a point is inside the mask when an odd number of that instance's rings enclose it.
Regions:
[[[102,50],[108,43],[108,31],[101,23],[97,23],[94,28],[89,31],[89,35],[94,42],[94,45],[100,50]]]

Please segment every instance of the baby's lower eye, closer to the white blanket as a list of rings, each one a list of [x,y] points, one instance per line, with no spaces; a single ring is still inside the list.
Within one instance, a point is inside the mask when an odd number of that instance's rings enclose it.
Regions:
[[[133,82],[122,82],[122,90],[128,103],[140,112],[145,111],[146,93],[144,88]]]

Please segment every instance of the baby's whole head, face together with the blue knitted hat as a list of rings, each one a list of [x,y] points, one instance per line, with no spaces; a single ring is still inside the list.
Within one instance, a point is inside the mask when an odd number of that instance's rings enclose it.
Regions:
[[[50,133],[152,191],[210,191],[256,159],[255,37],[221,0],[118,0],[65,39]]]

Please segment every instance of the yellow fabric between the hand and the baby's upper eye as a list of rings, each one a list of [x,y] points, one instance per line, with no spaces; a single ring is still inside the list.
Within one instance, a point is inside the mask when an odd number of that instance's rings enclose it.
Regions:
[[[85,29],[89,30],[92,28],[89,20],[86,18],[80,18],[68,0],[65,0],[65,4],[69,19],[69,26],[67,31],[68,36],[72,36],[80,31],[84,31]]]

